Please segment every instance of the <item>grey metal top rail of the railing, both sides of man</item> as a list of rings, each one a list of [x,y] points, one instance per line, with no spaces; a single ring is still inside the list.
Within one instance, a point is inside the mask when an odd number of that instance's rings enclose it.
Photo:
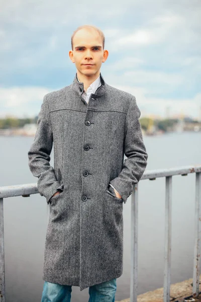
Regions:
[[[201,172],[201,165],[175,167],[171,169],[147,170],[143,174],[141,180],[174,175],[186,175],[189,173],[198,172]],[[38,193],[37,183],[0,187],[0,198],[31,195],[36,193]]]

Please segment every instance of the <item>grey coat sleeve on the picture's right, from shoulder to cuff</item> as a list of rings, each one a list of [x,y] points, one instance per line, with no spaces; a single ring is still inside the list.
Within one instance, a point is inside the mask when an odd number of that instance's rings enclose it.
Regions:
[[[124,203],[133,191],[134,184],[137,184],[147,166],[148,155],[143,142],[141,124],[139,117],[140,109],[137,106],[136,98],[133,96],[127,111],[124,135],[124,154],[127,159],[124,161],[123,169],[110,181],[122,196]]]

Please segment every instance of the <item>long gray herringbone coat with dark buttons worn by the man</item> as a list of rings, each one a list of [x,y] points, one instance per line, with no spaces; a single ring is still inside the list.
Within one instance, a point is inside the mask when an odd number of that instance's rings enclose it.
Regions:
[[[135,97],[100,79],[88,105],[76,75],[44,96],[28,152],[39,193],[52,207],[43,280],[80,290],[122,275],[123,204],[148,158]],[[109,183],[122,198],[110,194]],[[57,189],[62,192],[51,198]]]

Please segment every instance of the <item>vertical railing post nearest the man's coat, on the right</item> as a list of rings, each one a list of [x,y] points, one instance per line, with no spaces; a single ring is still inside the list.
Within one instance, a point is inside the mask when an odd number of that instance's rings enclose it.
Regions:
[[[138,184],[131,195],[131,282],[130,302],[137,302],[138,289]]]

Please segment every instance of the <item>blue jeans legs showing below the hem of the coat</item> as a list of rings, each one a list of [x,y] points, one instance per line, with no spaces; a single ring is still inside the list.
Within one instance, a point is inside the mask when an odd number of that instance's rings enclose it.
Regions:
[[[89,287],[88,302],[115,302],[117,279],[95,284]],[[45,281],[41,302],[70,302],[71,285],[61,285]]]

